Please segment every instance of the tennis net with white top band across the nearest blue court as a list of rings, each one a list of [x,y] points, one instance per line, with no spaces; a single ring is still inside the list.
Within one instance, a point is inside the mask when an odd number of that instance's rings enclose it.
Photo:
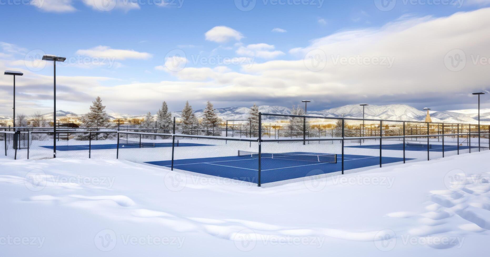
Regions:
[[[258,158],[258,152],[238,150],[238,156]],[[262,153],[261,158],[337,163],[337,154]]]

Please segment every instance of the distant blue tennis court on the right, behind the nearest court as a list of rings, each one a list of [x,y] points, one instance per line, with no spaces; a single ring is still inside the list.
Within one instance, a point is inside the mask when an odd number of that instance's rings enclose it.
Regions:
[[[366,148],[366,149],[379,149],[379,144],[377,145],[361,145],[361,146],[345,146],[351,148]],[[472,146],[471,149],[478,148],[477,146]],[[382,145],[382,150],[403,150],[403,144],[392,144],[392,145]],[[459,146],[459,150],[469,149],[468,146]],[[427,151],[427,143],[418,144],[418,143],[408,143],[405,145],[406,151]],[[455,145],[444,145],[444,151],[456,151],[458,150],[458,146]],[[429,144],[429,151],[441,152],[442,151],[442,143],[441,144]]]

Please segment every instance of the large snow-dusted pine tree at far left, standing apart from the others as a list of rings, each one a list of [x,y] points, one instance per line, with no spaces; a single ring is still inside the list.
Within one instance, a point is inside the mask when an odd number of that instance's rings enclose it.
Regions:
[[[102,105],[102,100],[97,97],[92,106],[90,106],[90,111],[80,118],[82,122],[82,127],[84,128],[109,128],[112,126],[110,122],[109,115],[105,112],[105,106]],[[113,136],[112,134],[98,134],[98,139],[107,139]],[[80,140],[88,140],[88,135],[80,134],[78,136]]]

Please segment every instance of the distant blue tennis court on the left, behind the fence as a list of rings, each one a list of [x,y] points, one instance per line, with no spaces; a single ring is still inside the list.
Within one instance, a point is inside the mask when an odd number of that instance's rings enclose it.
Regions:
[[[205,144],[195,144],[195,143],[176,143],[176,147],[198,147],[198,146],[212,146]],[[42,146],[44,148],[53,149],[53,146]],[[141,143],[140,144],[119,144],[119,149],[128,148],[155,148],[155,147],[172,147],[172,142],[168,143]],[[57,151],[73,151],[73,150],[102,150],[102,149],[116,149],[117,144],[104,144],[104,145],[73,145],[73,146],[56,146]]]

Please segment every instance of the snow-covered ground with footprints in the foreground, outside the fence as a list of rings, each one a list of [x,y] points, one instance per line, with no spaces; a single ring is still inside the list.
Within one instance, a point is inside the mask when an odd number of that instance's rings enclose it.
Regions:
[[[490,151],[271,188],[0,157],[0,256],[485,256]]]

